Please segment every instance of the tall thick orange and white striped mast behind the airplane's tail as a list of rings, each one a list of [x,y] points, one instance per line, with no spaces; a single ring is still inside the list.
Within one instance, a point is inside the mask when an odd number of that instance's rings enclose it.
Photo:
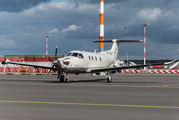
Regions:
[[[100,41],[104,41],[104,0],[100,0]],[[99,52],[104,51],[104,43],[99,44]]]

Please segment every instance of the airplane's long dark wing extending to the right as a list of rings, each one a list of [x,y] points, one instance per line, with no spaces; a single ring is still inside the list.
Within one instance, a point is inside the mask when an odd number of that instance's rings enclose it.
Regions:
[[[101,69],[94,69],[91,70],[92,73],[95,72],[103,72],[103,71],[113,71],[113,70],[121,70],[121,69],[129,69],[129,68],[140,68],[140,67],[147,67],[147,66],[155,66],[155,65],[169,65],[176,60],[171,62],[164,62],[164,63],[154,63],[154,64],[146,64],[146,65],[135,65],[135,66],[123,66],[123,67],[112,67],[112,68],[101,68]]]

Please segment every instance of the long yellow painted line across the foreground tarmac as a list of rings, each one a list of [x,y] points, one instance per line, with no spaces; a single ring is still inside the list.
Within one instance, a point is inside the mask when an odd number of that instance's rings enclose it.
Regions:
[[[53,104],[53,105],[81,105],[81,106],[105,106],[105,107],[135,107],[135,108],[164,108],[179,109],[173,106],[149,106],[149,105],[119,105],[119,104],[94,104],[94,103],[64,103],[64,102],[37,102],[37,101],[8,101],[0,100],[0,103],[27,103],[27,104]]]

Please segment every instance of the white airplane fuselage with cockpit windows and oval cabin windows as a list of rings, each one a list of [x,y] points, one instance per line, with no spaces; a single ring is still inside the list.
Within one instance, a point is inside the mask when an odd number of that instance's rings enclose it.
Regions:
[[[110,67],[115,59],[113,53],[110,52],[82,52],[82,51],[71,51],[66,56],[69,57],[61,61],[61,68],[67,73],[88,73],[93,69]]]

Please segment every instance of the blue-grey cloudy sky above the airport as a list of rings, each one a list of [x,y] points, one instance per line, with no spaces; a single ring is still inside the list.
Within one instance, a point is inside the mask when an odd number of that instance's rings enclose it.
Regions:
[[[143,40],[147,59],[179,59],[178,0],[104,0],[104,38]],[[99,44],[100,0],[0,0],[0,55],[45,55],[71,50],[93,52]],[[125,29],[126,27],[126,29]],[[105,50],[111,44],[105,44]],[[143,59],[143,43],[123,43],[118,58]]]

